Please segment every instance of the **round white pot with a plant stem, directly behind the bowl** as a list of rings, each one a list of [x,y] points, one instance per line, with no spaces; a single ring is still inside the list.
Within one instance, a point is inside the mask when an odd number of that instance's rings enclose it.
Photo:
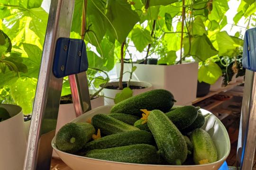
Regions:
[[[110,83],[107,84],[107,86],[110,86],[110,85],[118,86],[118,84],[119,84],[119,82],[110,82]],[[144,93],[144,92],[152,90],[152,85],[150,83],[146,83],[146,82],[131,81],[130,85],[136,85],[136,86],[145,87],[143,89],[133,89],[132,90],[133,91],[133,96],[135,96],[137,94],[140,94],[140,93]],[[122,90],[104,88],[103,89],[103,93],[104,93],[104,96],[106,96],[105,99],[104,99],[105,105],[113,105],[113,104],[115,104],[113,99],[116,97],[116,94],[120,93],[121,91]],[[112,99],[107,98],[107,97],[110,97]]]

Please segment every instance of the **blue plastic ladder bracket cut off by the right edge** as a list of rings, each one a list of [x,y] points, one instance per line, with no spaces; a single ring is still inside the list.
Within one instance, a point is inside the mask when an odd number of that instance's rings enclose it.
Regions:
[[[256,71],[256,28],[245,33],[242,64],[243,68]]]

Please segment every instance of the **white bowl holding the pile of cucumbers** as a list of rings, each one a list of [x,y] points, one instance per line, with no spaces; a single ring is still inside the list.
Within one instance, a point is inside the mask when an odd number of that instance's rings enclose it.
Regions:
[[[80,117],[73,119],[72,122],[85,122],[99,113],[109,114],[111,107],[112,106],[101,106],[99,108],[90,110]],[[201,111],[203,115],[209,113],[207,110],[201,109]],[[184,166],[123,163],[116,161],[104,161],[64,153],[56,148],[55,137],[53,138],[52,146],[59,157],[73,170],[218,170],[223,162],[227,159],[230,152],[228,132],[220,120],[211,113],[208,117],[206,117],[206,123],[201,128],[205,129],[210,134],[214,144],[216,145],[218,161],[214,163]]]

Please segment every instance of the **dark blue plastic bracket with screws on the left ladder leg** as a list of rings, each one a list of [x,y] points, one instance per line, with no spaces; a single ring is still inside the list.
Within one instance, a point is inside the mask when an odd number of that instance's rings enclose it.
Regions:
[[[78,74],[88,69],[86,46],[83,40],[59,38],[56,42],[53,74],[57,78]]]

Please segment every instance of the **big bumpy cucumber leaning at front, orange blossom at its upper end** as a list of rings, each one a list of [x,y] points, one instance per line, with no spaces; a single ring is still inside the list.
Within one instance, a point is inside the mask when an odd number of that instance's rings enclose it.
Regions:
[[[152,110],[147,118],[161,156],[174,165],[181,165],[187,157],[187,144],[181,132],[160,110]]]

